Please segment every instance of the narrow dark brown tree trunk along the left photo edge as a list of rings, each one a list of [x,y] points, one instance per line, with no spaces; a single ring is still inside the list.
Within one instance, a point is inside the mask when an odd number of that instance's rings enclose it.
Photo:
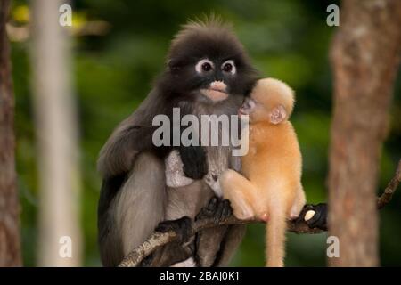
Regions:
[[[15,174],[14,100],[5,23],[9,0],[0,0],[0,267],[20,266],[20,207]]]

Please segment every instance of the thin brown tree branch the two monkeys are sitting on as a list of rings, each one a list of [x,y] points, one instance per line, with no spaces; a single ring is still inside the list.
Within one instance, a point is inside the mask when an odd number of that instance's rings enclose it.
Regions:
[[[386,187],[384,192],[378,198],[377,206],[379,209],[386,206],[389,201],[392,199],[394,192],[397,189],[398,184],[401,182],[401,160],[398,161],[397,171],[394,177],[390,180],[389,185]],[[224,221],[220,223],[216,223],[213,218],[201,219],[193,222],[191,236],[195,235],[197,232],[200,232],[205,229],[209,229],[212,227],[216,227],[219,225],[229,225],[229,224],[255,224],[255,223],[264,223],[262,221],[256,220],[239,220],[235,216],[229,216]],[[295,233],[308,233],[315,234],[320,232],[325,232],[318,228],[310,228],[305,221],[302,219],[297,219],[293,221],[289,221],[287,223],[287,231],[295,232]],[[157,248],[160,248],[172,241],[177,239],[177,234],[175,231],[168,232],[153,232],[151,236],[143,241],[139,247],[135,248],[131,253],[129,253],[123,261],[119,264],[119,267],[135,267],[139,265],[143,258],[151,255]]]

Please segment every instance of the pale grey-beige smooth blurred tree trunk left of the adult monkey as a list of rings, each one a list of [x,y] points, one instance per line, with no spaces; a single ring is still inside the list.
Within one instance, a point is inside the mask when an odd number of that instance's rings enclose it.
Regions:
[[[38,265],[81,265],[77,114],[63,0],[32,3],[32,70],[39,160]]]

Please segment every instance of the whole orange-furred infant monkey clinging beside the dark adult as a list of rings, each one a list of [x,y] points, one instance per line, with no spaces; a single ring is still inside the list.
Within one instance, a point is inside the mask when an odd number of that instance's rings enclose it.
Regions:
[[[302,158],[290,118],[294,93],[282,81],[258,81],[240,115],[249,115],[249,152],[242,174],[229,169],[220,177],[223,196],[234,216],[261,219],[266,225],[266,266],[283,266],[286,220],[299,216],[306,197],[301,185]]]

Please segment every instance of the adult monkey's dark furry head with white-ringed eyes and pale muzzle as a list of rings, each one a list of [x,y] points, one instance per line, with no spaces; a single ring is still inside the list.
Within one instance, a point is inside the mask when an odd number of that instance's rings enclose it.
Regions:
[[[190,102],[215,104],[243,97],[257,73],[230,28],[212,20],[184,26],[168,53],[164,85]]]

